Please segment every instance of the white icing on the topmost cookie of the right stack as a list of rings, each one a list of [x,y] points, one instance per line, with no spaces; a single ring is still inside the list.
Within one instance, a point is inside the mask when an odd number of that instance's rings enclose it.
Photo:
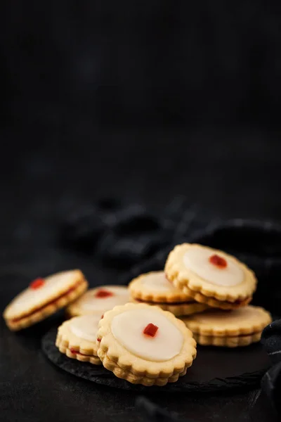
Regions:
[[[227,262],[226,268],[219,268],[209,262],[209,257],[214,255],[214,251],[208,248],[193,246],[183,255],[185,267],[193,271],[202,279],[218,286],[236,286],[242,283],[244,273],[230,257],[224,258]],[[219,252],[216,254],[218,256]]]

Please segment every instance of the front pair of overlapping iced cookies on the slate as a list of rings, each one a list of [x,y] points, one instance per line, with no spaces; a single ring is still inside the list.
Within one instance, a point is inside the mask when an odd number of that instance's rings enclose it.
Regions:
[[[159,307],[127,303],[75,316],[58,328],[55,345],[71,359],[103,366],[133,384],[166,385],[184,376],[196,342],[183,321]]]

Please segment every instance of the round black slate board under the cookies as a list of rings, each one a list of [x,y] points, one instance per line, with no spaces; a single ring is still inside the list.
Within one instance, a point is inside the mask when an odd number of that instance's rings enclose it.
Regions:
[[[235,388],[252,388],[259,384],[270,366],[260,343],[248,347],[197,347],[197,358],[188,373],[178,382],[164,387],[143,387],[117,378],[103,366],[78,362],[61,354],[55,347],[57,328],[44,335],[41,347],[48,359],[64,371],[108,387],[136,392],[216,392]]]

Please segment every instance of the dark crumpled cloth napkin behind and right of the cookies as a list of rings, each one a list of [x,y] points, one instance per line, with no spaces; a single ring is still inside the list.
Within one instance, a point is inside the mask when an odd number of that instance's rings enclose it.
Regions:
[[[175,198],[160,214],[144,205],[109,198],[75,207],[60,222],[59,238],[67,247],[98,254],[105,264],[123,268],[122,283],[142,272],[163,269],[169,251],[178,243],[225,250],[254,269],[259,279],[254,303],[273,315],[281,314],[281,224],[277,222],[211,217],[182,197]],[[273,366],[261,385],[280,411],[281,320],[265,328],[262,342]]]

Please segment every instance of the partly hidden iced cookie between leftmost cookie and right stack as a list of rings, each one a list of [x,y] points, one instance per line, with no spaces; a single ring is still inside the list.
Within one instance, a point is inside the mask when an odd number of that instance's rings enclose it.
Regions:
[[[129,302],[129,290],[126,286],[99,286],[91,288],[78,300],[67,307],[69,316],[96,314],[103,315],[117,305]]]

